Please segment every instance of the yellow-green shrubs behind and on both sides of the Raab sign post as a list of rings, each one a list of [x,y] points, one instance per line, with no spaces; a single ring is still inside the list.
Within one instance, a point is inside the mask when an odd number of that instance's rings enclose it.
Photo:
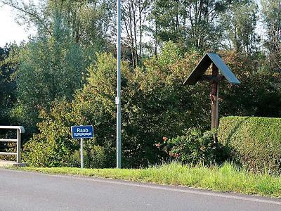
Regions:
[[[72,125],[87,123],[79,110],[73,103],[55,101],[51,111],[42,110],[40,117],[44,119],[38,124],[40,133],[25,143],[22,159],[34,167],[79,167],[79,140],[70,134]],[[112,167],[108,162],[110,147],[105,151],[95,139],[85,141],[85,167]]]

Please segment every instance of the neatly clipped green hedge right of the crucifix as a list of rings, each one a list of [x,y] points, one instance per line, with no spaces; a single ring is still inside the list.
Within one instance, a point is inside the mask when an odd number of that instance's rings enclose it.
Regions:
[[[281,118],[223,117],[218,141],[249,170],[281,173]]]

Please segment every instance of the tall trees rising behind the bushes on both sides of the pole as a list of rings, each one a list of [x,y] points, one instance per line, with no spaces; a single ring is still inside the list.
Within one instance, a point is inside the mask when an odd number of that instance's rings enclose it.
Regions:
[[[20,24],[37,28],[37,35],[12,56],[19,70],[14,77],[18,110],[26,107],[38,115],[55,98],[71,100],[84,84],[86,69],[96,63],[96,53],[115,55],[115,0],[0,3],[15,9]],[[258,56],[263,64],[268,61],[263,69],[281,72],[281,0],[260,3],[259,8],[254,0],[124,0],[123,59],[142,67],[145,58],[157,58],[173,41],[182,54],[230,50]],[[258,21],[266,36],[259,37]],[[36,81],[44,83],[37,87]]]

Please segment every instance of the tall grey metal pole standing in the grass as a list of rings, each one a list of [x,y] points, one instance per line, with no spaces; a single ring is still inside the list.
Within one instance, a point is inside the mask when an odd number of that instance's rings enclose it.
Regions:
[[[121,169],[121,2],[117,0],[117,169]]]

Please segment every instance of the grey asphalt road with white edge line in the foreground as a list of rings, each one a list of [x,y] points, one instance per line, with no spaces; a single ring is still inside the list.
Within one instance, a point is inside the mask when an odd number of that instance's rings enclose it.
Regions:
[[[281,210],[281,200],[0,169],[0,210]]]

